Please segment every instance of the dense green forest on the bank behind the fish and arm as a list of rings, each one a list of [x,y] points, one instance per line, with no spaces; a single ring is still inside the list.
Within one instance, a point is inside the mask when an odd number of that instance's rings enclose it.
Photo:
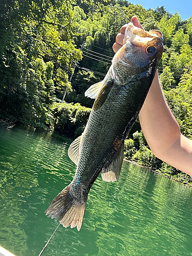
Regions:
[[[158,67],[163,93],[182,134],[192,139],[192,16],[182,20],[164,6],[146,10],[126,0],[2,0],[0,120],[79,136],[93,105],[84,92],[104,78],[115,37],[133,15],[145,30],[164,35]],[[192,184],[152,154],[139,120],[125,140],[124,157]]]

